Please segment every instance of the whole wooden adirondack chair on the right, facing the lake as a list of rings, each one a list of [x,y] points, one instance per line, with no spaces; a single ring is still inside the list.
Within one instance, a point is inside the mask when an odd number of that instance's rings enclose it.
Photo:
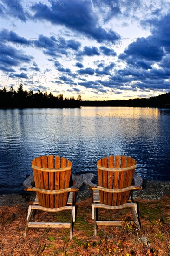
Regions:
[[[122,223],[121,221],[98,221],[97,208],[117,210],[130,207],[134,222],[140,226],[137,204],[132,202],[130,197],[131,190],[142,189],[143,180],[135,173],[135,168],[136,161],[127,156],[116,155],[98,160],[98,186],[92,186],[92,182],[89,184],[92,189],[92,219],[94,219],[95,236],[97,235],[97,226],[119,226]],[[133,180],[135,181],[134,185],[132,185]]]

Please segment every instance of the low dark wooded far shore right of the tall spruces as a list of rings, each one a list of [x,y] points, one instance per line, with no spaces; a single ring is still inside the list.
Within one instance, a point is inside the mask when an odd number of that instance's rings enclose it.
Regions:
[[[170,92],[150,98],[110,101],[81,101],[82,106],[170,107]]]

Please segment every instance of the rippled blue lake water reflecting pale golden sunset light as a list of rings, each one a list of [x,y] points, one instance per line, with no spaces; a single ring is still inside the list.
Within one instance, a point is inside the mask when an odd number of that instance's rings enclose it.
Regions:
[[[128,155],[142,178],[170,182],[170,108],[0,110],[0,194],[22,192],[33,158],[51,154],[96,180],[98,159]]]

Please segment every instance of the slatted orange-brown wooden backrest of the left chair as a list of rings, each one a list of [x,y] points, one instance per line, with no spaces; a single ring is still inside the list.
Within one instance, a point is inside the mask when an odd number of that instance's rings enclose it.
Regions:
[[[69,187],[72,162],[68,159],[44,155],[33,159],[32,169],[35,187],[46,190],[60,190]],[[40,206],[58,208],[66,205],[67,192],[57,195],[36,192]]]

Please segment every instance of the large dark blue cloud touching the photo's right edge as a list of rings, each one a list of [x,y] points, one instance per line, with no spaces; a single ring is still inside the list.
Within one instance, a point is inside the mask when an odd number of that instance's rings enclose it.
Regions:
[[[170,14],[162,19],[154,18],[144,22],[150,25],[152,35],[137,38],[119,58],[128,64],[148,69],[152,63],[161,61],[170,51]]]

